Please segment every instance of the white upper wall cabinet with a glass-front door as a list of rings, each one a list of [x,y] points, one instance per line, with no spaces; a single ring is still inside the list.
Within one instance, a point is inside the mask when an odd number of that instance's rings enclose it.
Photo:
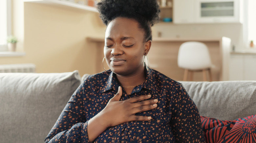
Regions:
[[[242,23],[243,0],[174,0],[175,24]]]

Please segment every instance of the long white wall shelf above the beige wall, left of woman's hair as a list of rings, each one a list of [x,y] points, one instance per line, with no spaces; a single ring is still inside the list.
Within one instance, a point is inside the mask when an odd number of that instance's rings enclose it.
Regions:
[[[63,7],[63,8],[73,8],[73,9],[75,8],[80,10],[98,12],[95,7],[73,3],[66,0],[24,0],[24,2],[42,3],[42,4],[49,4],[49,5]]]

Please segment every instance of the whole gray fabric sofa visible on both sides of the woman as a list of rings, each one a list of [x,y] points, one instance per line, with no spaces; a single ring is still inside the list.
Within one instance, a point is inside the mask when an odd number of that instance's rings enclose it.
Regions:
[[[0,73],[1,143],[44,142],[80,79],[78,71]],[[201,116],[233,120],[256,114],[256,81],[181,83]]]

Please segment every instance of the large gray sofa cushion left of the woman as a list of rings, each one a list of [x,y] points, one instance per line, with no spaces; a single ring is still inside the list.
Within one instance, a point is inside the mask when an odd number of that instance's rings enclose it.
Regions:
[[[44,142],[80,83],[78,71],[0,73],[1,142]]]

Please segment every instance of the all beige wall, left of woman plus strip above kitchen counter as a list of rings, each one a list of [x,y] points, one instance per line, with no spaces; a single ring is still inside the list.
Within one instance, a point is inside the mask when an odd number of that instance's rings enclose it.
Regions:
[[[98,72],[96,59],[103,58],[102,52],[98,52],[103,47],[85,39],[104,37],[105,26],[98,13],[12,1],[12,33],[19,39],[17,51],[26,52],[26,56],[0,57],[0,64],[34,63],[36,72],[78,70],[80,75]],[[153,27],[153,37],[158,32],[162,37],[226,36],[237,49],[243,47],[242,24],[157,24]]]

